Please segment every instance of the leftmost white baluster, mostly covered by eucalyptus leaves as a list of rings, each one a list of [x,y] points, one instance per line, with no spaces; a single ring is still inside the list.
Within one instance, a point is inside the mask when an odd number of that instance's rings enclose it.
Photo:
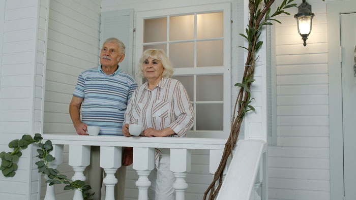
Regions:
[[[55,157],[55,159],[51,162],[48,162],[48,168],[57,169],[57,166],[63,162],[63,145],[52,146],[53,150],[50,152],[50,154]],[[45,179],[49,180],[47,175],[45,175]],[[54,185],[49,186],[49,183],[47,183],[46,195],[44,197],[44,200],[55,200]]]

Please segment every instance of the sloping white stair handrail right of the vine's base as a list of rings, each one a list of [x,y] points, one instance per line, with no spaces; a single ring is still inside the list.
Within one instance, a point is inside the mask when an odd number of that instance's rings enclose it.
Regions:
[[[239,140],[217,200],[249,200],[265,148],[262,140]]]

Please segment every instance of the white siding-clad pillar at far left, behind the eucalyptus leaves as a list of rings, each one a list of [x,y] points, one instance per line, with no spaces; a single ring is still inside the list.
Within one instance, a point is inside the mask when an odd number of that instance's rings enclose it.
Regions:
[[[9,151],[11,140],[41,130],[47,8],[47,0],[0,4],[0,151]],[[23,151],[14,178],[0,174],[2,199],[38,199],[33,151],[32,146]]]

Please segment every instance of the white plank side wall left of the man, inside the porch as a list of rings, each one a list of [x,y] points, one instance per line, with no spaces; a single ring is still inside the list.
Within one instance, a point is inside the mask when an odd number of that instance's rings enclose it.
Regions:
[[[69,103],[78,75],[99,63],[100,0],[50,0],[45,81],[44,134],[76,134]],[[58,170],[71,178],[68,147]],[[56,185],[57,199],[73,198]],[[41,199],[46,191],[42,176]]]

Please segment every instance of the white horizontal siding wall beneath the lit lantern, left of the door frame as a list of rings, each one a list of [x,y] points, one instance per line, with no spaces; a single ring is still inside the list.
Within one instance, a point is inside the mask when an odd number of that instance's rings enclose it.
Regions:
[[[321,0],[307,2],[315,17],[306,47],[292,16],[297,8],[276,25],[277,146],[269,146],[269,199],[330,199],[327,14]]]

